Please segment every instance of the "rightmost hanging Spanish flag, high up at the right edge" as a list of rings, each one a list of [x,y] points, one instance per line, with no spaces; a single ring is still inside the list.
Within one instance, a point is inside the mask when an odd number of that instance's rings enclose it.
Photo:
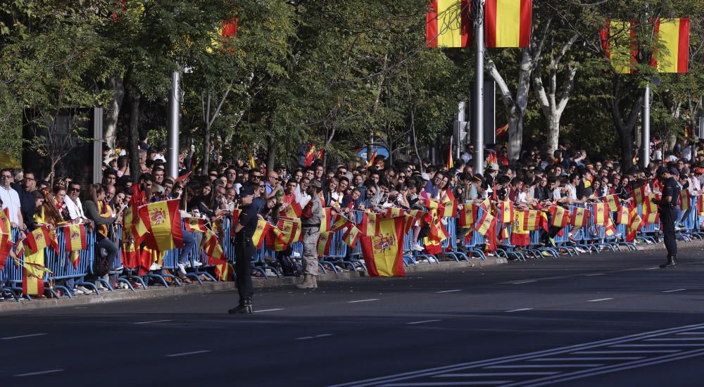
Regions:
[[[650,65],[658,72],[686,73],[689,68],[689,19],[655,19],[655,49]]]

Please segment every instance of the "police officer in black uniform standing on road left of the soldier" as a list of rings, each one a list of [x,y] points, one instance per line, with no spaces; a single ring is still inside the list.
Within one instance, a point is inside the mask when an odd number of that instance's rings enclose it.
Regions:
[[[249,315],[252,309],[252,269],[251,260],[254,255],[252,235],[257,229],[259,209],[253,204],[254,189],[252,186],[242,187],[240,193],[242,210],[237,224],[234,224],[234,272],[237,275],[237,291],[239,291],[239,305],[227,312],[230,314]]]

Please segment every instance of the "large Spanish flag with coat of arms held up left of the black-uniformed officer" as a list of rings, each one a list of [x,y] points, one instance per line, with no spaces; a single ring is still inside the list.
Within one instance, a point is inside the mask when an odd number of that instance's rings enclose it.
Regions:
[[[178,202],[158,201],[139,207],[139,218],[147,231],[147,234],[144,234],[144,243],[151,250],[167,251],[183,247]]]

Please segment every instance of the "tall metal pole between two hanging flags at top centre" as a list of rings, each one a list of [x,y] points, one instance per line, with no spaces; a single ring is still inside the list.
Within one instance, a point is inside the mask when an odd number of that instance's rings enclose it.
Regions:
[[[484,173],[484,0],[472,1],[475,35],[477,36],[477,62],[474,85],[474,173]]]

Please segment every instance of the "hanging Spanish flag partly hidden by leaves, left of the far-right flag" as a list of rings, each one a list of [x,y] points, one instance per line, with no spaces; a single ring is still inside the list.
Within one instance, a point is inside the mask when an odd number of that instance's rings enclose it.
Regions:
[[[599,32],[601,47],[619,74],[635,72],[634,63],[638,55],[636,30],[631,22],[623,20],[606,20],[606,25]]]

